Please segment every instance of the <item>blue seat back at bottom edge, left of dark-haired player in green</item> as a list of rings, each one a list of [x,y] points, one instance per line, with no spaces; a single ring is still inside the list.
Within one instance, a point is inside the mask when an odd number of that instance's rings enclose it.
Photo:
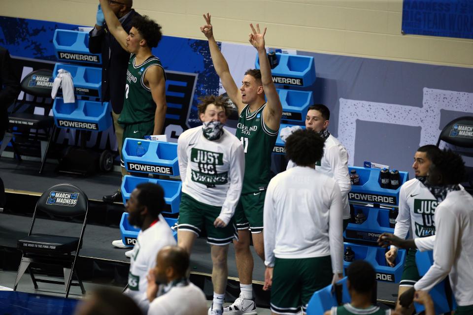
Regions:
[[[341,295],[341,302],[343,304],[351,302],[351,297],[348,293],[346,280],[347,277],[337,282],[337,284],[343,285]],[[335,295],[335,291],[332,293],[332,284],[329,284],[323,289],[314,292],[314,294],[310,298],[309,303],[307,304],[306,313],[307,315],[320,315],[324,314],[325,311],[330,310],[334,306],[338,306],[337,297]]]

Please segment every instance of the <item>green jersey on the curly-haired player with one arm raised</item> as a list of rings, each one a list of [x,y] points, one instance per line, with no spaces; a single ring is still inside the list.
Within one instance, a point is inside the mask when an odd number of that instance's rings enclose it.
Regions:
[[[159,58],[151,56],[144,63],[136,65],[136,55],[130,56],[125,86],[125,100],[118,122],[122,125],[144,123],[154,120],[156,103],[151,89],[144,85],[144,74],[151,66],[160,66]],[[164,69],[163,69],[164,71]],[[166,73],[164,74],[166,80]]]

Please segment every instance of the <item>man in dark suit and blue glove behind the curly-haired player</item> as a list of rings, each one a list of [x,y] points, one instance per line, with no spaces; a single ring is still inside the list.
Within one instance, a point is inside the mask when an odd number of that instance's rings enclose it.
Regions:
[[[132,0],[109,0],[110,7],[119,19],[125,31],[130,32],[132,19],[139,15],[132,9]],[[103,13],[99,5],[97,11],[97,24],[94,30],[89,33],[89,51],[94,54],[102,54],[102,101],[110,101],[112,105],[113,125],[118,142],[118,151],[122,153],[123,127],[118,124],[118,118],[123,108],[123,98],[125,95],[125,81],[127,75],[128,61],[130,53],[124,50],[117,40],[108,31],[104,23]],[[127,172],[121,161],[122,175]],[[120,189],[115,193],[103,196],[103,201],[122,201]]]

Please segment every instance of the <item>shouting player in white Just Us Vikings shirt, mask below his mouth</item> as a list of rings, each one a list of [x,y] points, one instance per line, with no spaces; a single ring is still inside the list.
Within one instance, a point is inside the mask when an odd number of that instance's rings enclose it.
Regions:
[[[228,246],[237,239],[233,221],[244,172],[241,142],[223,128],[229,115],[227,99],[206,96],[198,106],[203,126],[184,131],[177,141],[182,180],[178,245],[191,252],[205,226],[213,263],[213,305],[209,314],[222,314],[227,283]]]

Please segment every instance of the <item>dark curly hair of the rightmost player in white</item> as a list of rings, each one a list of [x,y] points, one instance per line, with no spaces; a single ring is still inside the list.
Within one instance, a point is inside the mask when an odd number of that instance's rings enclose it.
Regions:
[[[465,181],[465,162],[452,150],[443,149],[433,156],[431,167],[435,167],[440,172],[443,184],[460,184]]]

